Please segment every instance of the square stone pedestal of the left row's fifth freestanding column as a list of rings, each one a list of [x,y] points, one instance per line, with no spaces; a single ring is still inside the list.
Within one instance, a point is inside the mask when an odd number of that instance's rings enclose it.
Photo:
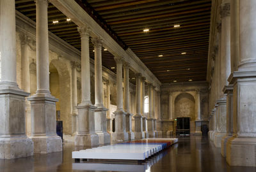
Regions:
[[[113,133],[113,141],[123,142],[129,140],[129,135],[125,131],[126,121],[125,121],[125,112],[115,111],[115,133]]]

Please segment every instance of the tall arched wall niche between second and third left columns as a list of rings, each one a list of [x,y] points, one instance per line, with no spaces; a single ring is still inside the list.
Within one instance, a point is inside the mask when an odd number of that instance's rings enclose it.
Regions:
[[[49,71],[51,73],[50,74],[50,90],[52,92],[52,96],[59,99],[58,103],[56,103],[56,110],[60,110],[60,120],[63,121],[63,133],[72,134],[72,115],[70,115],[71,113],[70,69],[68,68],[67,64],[63,62],[63,60],[53,59],[50,62]],[[56,88],[54,88],[53,84],[56,85]]]

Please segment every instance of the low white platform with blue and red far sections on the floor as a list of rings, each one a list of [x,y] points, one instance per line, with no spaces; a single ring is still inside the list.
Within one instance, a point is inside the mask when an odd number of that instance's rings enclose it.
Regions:
[[[156,140],[156,143],[152,141]],[[141,140],[145,143],[122,143],[97,148],[88,148],[86,150],[72,152],[72,159],[112,159],[112,160],[135,160],[143,161],[148,157],[157,154],[163,150],[161,141],[172,141],[176,143],[177,139],[150,139]]]

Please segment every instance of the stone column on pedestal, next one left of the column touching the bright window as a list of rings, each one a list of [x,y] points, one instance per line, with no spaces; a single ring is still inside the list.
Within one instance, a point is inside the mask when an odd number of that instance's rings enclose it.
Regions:
[[[134,135],[135,139],[145,138],[142,130],[141,117],[141,73],[136,73],[136,115],[134,115]]]

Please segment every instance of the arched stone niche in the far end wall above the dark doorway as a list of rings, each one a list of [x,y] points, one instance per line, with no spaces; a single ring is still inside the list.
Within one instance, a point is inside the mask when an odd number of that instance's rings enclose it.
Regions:
[[[195,98],[187,93],[182,92],[175,97],[175,118],[177,117],[190,117],[190,120],[195,120]]]

